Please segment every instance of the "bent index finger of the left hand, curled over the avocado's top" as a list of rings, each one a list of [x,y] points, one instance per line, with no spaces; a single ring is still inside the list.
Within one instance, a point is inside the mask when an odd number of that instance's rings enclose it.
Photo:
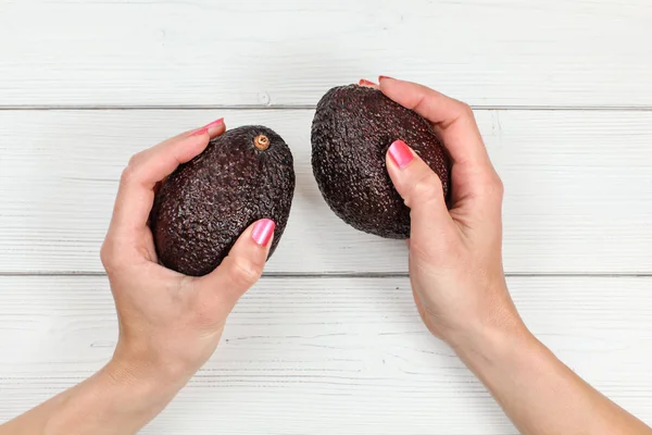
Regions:
[[[141,231],[147,225],[156,183],[201,153],[209,140],[225,128],[223,120],[217,120],[135,154],[121,177],[112,229],[125,234]]]

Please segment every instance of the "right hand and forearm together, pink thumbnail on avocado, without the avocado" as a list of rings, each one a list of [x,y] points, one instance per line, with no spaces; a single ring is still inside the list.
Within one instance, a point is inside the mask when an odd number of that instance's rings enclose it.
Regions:
[[[387,153],[389,175],[411,209],[410,278],[428,328],[524,434],[651,434],[557,360],[518,316],[502,268],[503,186],[471,108],[408,82],[381,77],[379,88],[429,120],[452,159],[448,210],[439,177],[409,144],[398,140]]]

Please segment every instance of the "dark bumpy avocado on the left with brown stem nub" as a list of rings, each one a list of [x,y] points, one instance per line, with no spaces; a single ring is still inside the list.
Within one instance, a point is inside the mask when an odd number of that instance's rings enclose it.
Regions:
[[[267,149],[254,146],[259,135],[269,139]],[[272,256],[293,194],[293,159],[283,138],[263,126],[230,129],[181,164],[158,191],[150,225],[159,261],[186,275],[205,275],[249,225],[264,217],[276,222]]]

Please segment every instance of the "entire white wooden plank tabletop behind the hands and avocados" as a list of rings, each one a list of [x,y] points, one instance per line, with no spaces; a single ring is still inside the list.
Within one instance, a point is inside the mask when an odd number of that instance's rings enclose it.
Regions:
[[[516,433],[421,324],[403,245],[340,222],[312,177],[318,98],[386,74],[477,109],[518,309],[652,423],[650,23],[649,0],[0,0],[0,421],[112,353],[98,250],[128,157],[225,116],[286,138],[294,207],[143,433]]]

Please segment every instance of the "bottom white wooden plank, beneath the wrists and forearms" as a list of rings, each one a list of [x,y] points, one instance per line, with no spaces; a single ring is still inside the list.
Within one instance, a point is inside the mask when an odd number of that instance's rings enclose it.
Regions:
[[[652,279],[511,278],[530,328],[652,423]],[[104,277],[0,277],[0,421],[100,368],[117,328]],[[515,434],[426,332],[408,278],[263,278],[216,355],[145,434]]]

